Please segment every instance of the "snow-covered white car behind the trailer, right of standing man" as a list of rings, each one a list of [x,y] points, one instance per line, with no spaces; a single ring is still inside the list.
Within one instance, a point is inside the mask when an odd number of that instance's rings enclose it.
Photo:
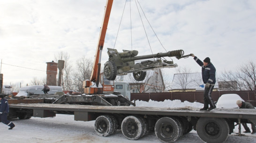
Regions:
[[[217,108],[238,108],[238,105],[236,105],[237,100],[244,101],[237,94],[223,94],[221,95],[220,98],[218,98],[216,107]]]

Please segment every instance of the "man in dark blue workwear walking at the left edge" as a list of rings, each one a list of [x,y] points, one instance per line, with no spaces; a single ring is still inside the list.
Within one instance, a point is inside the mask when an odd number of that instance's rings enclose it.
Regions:
[[[14,123],[7,120],[7,116],[9,113],[9,105],[7,99],[4,98],[3,94],[0,94],[0,120],[10,126],[9,129],[13,129],[15,127]]]

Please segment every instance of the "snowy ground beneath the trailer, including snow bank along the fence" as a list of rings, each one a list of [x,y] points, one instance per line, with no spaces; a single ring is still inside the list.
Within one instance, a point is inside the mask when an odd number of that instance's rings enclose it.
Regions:
[[[164,102],[136,101],[136,105],[201,108],[203,104],[166,100]],[[154,132],[136,141],[126,139],[120,130],[108,137],[101,137],[94,131],[94,121],[75,121],[73,115],[57,114],[53,118],[32,117],[29,120],[12,121],[16,125],[12,130],[8,130],[5,124],[0,123],[0,143],[161,143]],[[251,127],[250,124],[248,127]],[[234,132],[238,133],[237,126]],[[182,135],[175,143],[203,143],[203,141],[193,130],[187,135]],[[233,133],[228,136],[226,143],[256,143],[256,135],[246,133],[244,136],[238,136]]]

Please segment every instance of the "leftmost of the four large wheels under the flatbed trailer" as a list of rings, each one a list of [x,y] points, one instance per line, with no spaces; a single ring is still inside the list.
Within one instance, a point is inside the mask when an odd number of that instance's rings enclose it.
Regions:
[[[114,132],[113,120],[108,115],[99,116],[95,120],[94,129],[99,136],[112,135]]]

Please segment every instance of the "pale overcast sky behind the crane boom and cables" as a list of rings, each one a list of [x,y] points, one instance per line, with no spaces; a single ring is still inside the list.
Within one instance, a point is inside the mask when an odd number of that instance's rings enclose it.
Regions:
[[[0,0],[4,84],[25,86],[33,77],[46,77],[46,62],[54,60],[54,55],[60,52],[70,55],[74,67],[75,61],[83,56],[94,59],[105,3],[105,0]],[[107,48],[113,48],[124,4],[125,0],[113,2],[102,64],[108,60]],[[145,55],[151,54],[151,50],[158,53],[182,49],[201,60],[210,57],[219,75],[248,60],[256,62],[256,0],[139,0],[139,4],[166,50],[140,13],[150,48],[136,3],[131,0],[132,20],[128,2],[115,45],[119,52],[133,49],[138,55]],[[192,57],[172,59],[181,68],[201,71]],[[175,73],[174,68],[165,71]]]

